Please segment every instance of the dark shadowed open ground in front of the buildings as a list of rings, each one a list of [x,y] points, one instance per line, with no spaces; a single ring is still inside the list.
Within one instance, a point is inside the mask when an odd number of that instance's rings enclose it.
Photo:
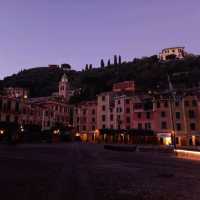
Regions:
[[[200,199],[200,161],[103,145],[0,146],[0,199]]]

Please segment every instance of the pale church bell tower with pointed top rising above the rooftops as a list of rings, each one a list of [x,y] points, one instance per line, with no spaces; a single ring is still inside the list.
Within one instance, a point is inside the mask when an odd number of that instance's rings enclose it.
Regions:
[[[59,82],[59,96],[63,97],[66,101],[69,101],[70,88],[69,81],[66,74],[63,74]]]

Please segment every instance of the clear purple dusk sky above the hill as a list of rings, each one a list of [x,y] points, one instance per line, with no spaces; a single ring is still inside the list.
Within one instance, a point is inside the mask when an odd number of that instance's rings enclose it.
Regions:
[[[199,0],[0,0],[0,78],[70,63],[81,69],[185,46],[200,54]]]

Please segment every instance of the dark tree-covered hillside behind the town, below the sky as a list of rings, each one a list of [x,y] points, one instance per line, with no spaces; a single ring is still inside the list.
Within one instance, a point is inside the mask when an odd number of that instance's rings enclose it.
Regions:
[[[6,77],[0,86],[26,87],[30,89],[32,97],[48,96],[57,91],[63,73],[61,68],[27,69]],[[192,87],[199,82],[200,56],[168,62],[159,62],[157,56],[151,56],[82,72],[70,70],[66,74],[71,87],[81,88],[82,91],[72,102],[92,99],[96,94],[110,90],[113,83],[124,80],[135,80],[138,90],[163,90],[167,88],[167,74],[171,75],[176,87]]]

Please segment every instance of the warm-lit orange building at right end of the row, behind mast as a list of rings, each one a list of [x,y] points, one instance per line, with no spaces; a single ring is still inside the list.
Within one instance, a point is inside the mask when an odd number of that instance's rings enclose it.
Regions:
[[[177,101],[155,99],[155,130],[158,135],[175,134],[177,145],[200,144],[200,107],[196,94],[188,94]]]

